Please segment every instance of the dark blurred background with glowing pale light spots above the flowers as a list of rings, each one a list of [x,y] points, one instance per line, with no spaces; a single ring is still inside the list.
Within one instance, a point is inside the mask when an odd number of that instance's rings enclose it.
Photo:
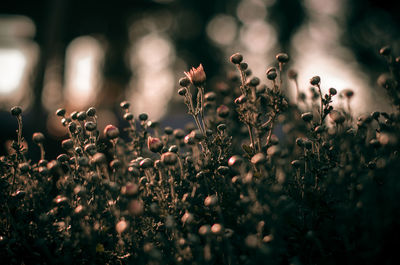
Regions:
[[[387,110],[376,85],[387,71],[378,51],[390,44],[400,54],[399,7],[384,0],[2,1],[0,154],[15,138],[14,105],[24,110],[28,143],[35,131],[47,135],[48,159],[65,137],[54,114],[60,107],[95,106],[101,130],[121,121],[126,99],[136,115],[182,126],[190,120],[176,92],[183,71],[202,63],[212,90],[234,70],[234,52],[263,82],[275,54],[287,52],[302,91],[319,75],[323,91],[354,90],[355,113]]]

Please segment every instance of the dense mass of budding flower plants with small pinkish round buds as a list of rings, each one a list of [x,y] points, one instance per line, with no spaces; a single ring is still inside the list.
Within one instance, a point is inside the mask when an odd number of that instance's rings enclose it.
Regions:
[[[182,73],[185,128],[136,117],[126,101],[120,128],[98,128],[93,107],[59,109],[64,153],[51,161],[41,132],[29,146],[41,159],[28,159],[12,108],[1,263],[398,264],[400,57],[380,53],[393,113],[354,117],[358,95],[319,76],[289,100],[286,53],[262,77],[233,54],[236,74],[214,87],[201,64]]]

